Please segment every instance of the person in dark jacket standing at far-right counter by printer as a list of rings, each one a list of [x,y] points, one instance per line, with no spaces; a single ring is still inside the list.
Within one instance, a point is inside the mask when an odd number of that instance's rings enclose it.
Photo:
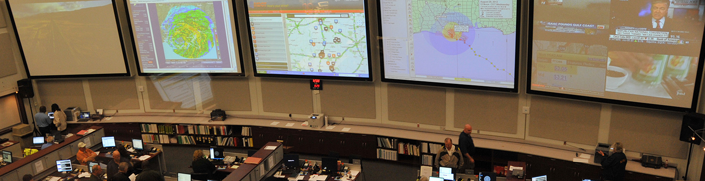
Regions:
[[[606,181],[622,181],[624,180],[625,167],[627,167],[627,156],[623,153],[623,145],[620,142],[612,144],[614,154],[602,160],[602,180]],[[598,151],[599,154],[605,156],[605,153]]]

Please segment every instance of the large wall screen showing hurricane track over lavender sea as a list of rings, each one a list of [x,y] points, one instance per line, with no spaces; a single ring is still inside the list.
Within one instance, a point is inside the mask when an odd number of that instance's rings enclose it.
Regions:
[[[515,0],[379,0],[382,81],[517,92]]]

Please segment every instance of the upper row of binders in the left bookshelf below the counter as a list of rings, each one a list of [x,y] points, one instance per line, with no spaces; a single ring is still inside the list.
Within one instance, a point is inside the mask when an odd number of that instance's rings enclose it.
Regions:
[[[159,134],[192,134],[192,135],[231,135],[232,130],[226,125],[171,125],[171,124],[141,124],[142,132]]]

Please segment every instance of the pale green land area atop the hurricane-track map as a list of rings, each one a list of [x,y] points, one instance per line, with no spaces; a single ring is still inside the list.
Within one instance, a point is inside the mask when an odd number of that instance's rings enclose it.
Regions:
[[[496,11],[492,9],[498,7],[495,4],[511,4],[511,18],[490,18],[485,15],[486,12]],[[455,22],[470,25],[470,28],[494,27],[503,32],[503,35],[509,35],[516,32],[516,9],[517,2],[508,0],[412,0],[413,31],[439,32],[445,23]],[[465,17],[457,17],[458,13]]]

